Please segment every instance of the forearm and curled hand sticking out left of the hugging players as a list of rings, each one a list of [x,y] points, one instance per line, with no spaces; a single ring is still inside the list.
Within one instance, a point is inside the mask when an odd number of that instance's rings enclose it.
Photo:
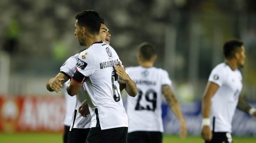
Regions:
[[[57,74],[57,76],[55,76],[55,78],[50,78],[50,80],[47,81],[46,88],[48,91],[55,91],[58,93],[61,91],[63,83],[65,83],[67,80],[69,80],[69,78],[60,72]]]

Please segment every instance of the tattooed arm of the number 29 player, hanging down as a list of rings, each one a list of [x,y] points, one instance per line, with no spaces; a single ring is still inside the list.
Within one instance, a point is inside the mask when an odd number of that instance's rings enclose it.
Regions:
[[[179,135],[181,138],[185,138],[187,136],[187,125],[186,125],[186,121],[183,117],[179,102],[176,99],[176,97],[174,96],[172,89],[170,88],[169,85],[163,85],[162,92],[163,92],[163,95],[164,95],[166,101],[170,105],[172,112],[179,119],[179,123],[180,123]]]

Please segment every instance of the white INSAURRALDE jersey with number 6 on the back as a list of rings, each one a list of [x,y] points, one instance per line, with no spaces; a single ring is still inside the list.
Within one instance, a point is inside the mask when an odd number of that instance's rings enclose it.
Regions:
[[[89,96],[87,99],[92,115],[91,127],[95,127],[97,123],[94,112],[96,108],[102,130],[128,127],[117,75],[113,68],[119,61],[116,51],[105,42],[93,43],[79,55],[77,71],[86,77],[83,85]]]

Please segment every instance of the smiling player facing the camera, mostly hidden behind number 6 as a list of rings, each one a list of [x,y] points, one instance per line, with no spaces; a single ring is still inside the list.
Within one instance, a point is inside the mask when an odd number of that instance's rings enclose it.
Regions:
[[[76,33],[74,33],[76,34]],[[106,42],[107,44],[110,44],[110,33],[108,28],[105,25],[104,19],[101,18],[101,28],[99,32],[99,36],[101,40]],[[85,48],[86,49],[86,48]],[[51,78],[47,82],[47,89],[49,91],[55,91],[59,92],[62,88],[63,83],[67,84],[67,80],[71,78],[73,75],[75,68],[76,68],[76,63],[78,59],[79,54],[75,54],[74,56],[71,56],[65,63],[62,65],[60,68],[60,73],[55,77]],[[66,86],[64,86],[66,89]],[[85,143],[87,134],[90,130],[90,121],[91,121],[91,116],[87,114],[79,115],[79,106],[84,105],[86,106],[86,97],[84,94],[84,89],[83,87],[81,88],[80,94],[76,95],[76,98],[71,97],[67,94],[67,91],[65,90],[65,101],[66,101],[66,114],[64,118],[64,143],[66,143],[69,140],[69,143]],[[69,96],[69,97],[66,97]],[[75,110],[73,110],[75,107]],[[72,114],[68,112],[69,110],[72,110]],[[83,117],[86,118],[83,118]],[[68,121],[68,119],[71,119],[71,121]],[[70,128],[70,125],[72,125],[72,128]],[[70,133],[69,133],[69,130]],[[67,138],[67,134],[69,133],[69,138]]]

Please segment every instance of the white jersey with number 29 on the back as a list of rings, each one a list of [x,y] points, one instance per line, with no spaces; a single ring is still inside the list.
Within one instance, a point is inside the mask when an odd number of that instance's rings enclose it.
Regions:
[[[171,86],[168,72],[156,67],[141,66],[126,68],[136,83],[138,95],[127,97],[128,132],[163,132],[162,86]]]

